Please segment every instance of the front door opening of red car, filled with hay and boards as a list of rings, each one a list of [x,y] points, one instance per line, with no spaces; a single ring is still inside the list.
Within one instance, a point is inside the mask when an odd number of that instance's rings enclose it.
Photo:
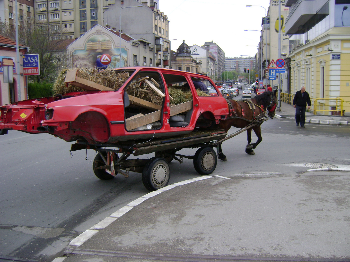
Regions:
[[[124,94],[126,130],[160,129],[162,122],[161,114],[158,112],[162,111],[165,100],[164,85],[160,75],[157,72],[141,71],[128,83],[124,92],[127,94],[127,96]],[[142,116],[153,112],[159,119],[148,123],[147,119]]]

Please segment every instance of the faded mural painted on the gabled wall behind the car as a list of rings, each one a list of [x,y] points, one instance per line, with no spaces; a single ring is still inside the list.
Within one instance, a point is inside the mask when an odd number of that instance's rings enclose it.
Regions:
[[[112,60],[108,65],[109,68],[127,66],[127,50],[121,48],[121,65],[119,65],[119,48],[113,48],[111,39],[102,34],[90,36],[86,41],[85,49],[75,50],[73,52],[74,66],[94,68],[96,66],[96,60],[102,54],[109,54],[111,56]]]

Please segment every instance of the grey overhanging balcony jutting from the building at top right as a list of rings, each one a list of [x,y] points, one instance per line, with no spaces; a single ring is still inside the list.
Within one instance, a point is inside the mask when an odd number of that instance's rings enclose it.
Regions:
[[[329,15],[329,0],[288,0],[289,9],[286,34],[304,34]]]

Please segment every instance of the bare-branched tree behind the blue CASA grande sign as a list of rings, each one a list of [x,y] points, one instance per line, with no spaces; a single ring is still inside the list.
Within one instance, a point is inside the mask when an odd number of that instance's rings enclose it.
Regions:
[[[54,28],[57,29],[57,28]],[[39,54],[40,75],[29,76],[30,80],[53,82],[57,72],[67,67],[69,55],[66,52],[62,30],[50,30],[48,25],[23,23],[19,26],[19,44],[29,47],[29,53]],[[0,35],[16,39],[13,26],[0,21]]]

